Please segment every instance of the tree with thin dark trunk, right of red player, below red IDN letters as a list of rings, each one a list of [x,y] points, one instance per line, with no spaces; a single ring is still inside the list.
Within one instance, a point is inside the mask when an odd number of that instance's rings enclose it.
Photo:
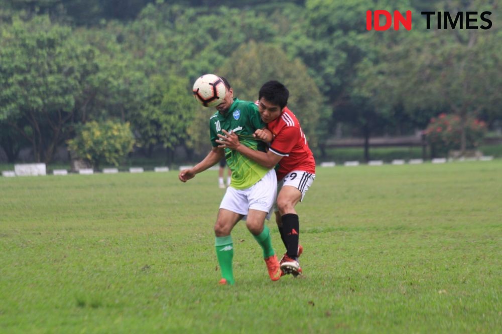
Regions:
[[[398,85],[401,83],[382,70],[394,68],[396,62],[408,59],[404,54],[396,59],[394,55],[389,55],[388,50],[407,45],[413,34],[416,33],[369,31],[359,36],[359,42],[364,46],[362,58],[352,65],[353,72],[345,88],[347,97],[338,101],[333,116],[360,129],[360,134],[364,137],[365,161],[370,160],[370,136],[401,133],[402,130],[412,131],[418,124],[418,121],[406,112],[406,99],[399,94]],[[423,127],[428,118],[422,121]]]

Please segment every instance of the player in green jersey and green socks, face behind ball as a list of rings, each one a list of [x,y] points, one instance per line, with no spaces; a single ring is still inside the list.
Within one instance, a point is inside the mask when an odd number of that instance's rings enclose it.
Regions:
[[[276,281],[282,272],[272,248],[270,230],[265,225],[265,218],[270,218],[277,195],[275,171],[265,168],[237,151],[220,148],[216,142],[219,139],[218,134],[222,134],[222,130],[225,130],[237,134],[240,142],[247,147],[265,151],[266,144],[256,139],[253,134],[257,129],[265,128],[267,124],[262,121],[258,106],[254,102],[233,98],[230,84],[225,78],[221,79],[227,92],[223,102],[216,106],[217,112],[209,118],[212,149],[202,161],[191,169],[181,171],[178,177],[181,182],[187,182],[225,157],[232,176],[214,225],[216,256],[222,276],[219,283],[234,284],[233,242],[230,233],[241,219],[246,221],[247,229],[262,247],[269,276]]]

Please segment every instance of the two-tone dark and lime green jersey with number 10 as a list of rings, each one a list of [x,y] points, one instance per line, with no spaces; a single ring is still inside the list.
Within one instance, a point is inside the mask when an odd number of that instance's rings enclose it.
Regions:
[[[265,152],[267,145],[263,141],[255,139],[253,133],[266,126],[267,124],[262,121],[258,106],[254,102],[233,99],[226,114],[222,115],[217,111],[209,118],[211,144],[213,147],[218,146],[217,134],[223,134],[221,130],[226,130],[237,134],[241,144]],[[231,185],[235,189],[246,189],[253,186],[269,171],[258,162],[229,148],[225,148],[225,159],[228,168],[232,171]]]

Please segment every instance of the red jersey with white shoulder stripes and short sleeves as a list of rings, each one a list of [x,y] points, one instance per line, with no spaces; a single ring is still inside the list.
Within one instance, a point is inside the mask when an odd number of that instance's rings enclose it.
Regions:
[[[315,160],[295,114],[287,107],[277,119],[267,124],[274,135],[270,150],[282,155],[277,169],[277,180],[281,181],[292,171],[315,174]]]

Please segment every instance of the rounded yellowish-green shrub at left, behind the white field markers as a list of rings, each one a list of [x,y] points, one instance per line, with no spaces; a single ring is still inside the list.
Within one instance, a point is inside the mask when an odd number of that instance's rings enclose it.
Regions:
[[[76,137],[68,140],[69,148],[95,168],[104,162],[118,166],[135,143],[129,122],[91,121],[78,127],[76,132]]]

